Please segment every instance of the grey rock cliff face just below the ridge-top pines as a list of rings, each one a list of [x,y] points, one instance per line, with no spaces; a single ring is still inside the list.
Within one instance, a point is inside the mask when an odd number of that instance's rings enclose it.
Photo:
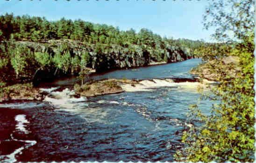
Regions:
[[[104,72],[110,69],[131,68],[150,65],[150,62],[172,63],[192,59],[190,49],[178,46],[167,46],[164,50],[154,50],[149,47],[130,45],[128,47],[118,45],[94,45],[73,40],[49,40],[41,43],[29,41],[17,41],[15,44],[28,46],[34,52],[48,52],[51,55],[60,51],[65,46],[72,56],[89,52],[88,67],[96,69],[96,72]],[[99,48],[100,47],[100,48]]]

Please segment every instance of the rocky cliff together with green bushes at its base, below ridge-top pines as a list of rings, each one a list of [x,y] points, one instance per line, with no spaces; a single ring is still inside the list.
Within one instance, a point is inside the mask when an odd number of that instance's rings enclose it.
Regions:
[[[1,43],[0,53],[5,62],[0,63],[0,81],[13,84],[78,74],[85,66],[104,72],[193,58],[189,49],[171,45],[153,48],[133,44],[90,44],[68,39]],[[82,58],[87,61],[82,62]]]

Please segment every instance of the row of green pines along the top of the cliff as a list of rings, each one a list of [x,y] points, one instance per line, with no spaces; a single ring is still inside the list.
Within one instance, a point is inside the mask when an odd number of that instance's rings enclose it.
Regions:
[[[189,39],[167,39],[142,28],[139,33],[134,29],[121,31],[118,27],[106,24],[93,24],[83,20],[48,21],[44,17],[30,17],[28,15],[14,16],[6,13],[0,16],[1,40],[30,40],[42,41],[49,39],[72,39],[92,44],[117,44],[120,46],[146,45],[152,48],[164,49],[164,44],[197,48],[204,41]]]

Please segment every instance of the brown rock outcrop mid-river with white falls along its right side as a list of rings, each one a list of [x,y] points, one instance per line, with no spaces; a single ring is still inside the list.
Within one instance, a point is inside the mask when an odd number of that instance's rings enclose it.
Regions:
[[[83,86],[75,85],[74,90],[80,96],[92,97],[104,94],[121,93],[123,91],[153,91],[157,87],[175,87],[179,90],[198,91],[199,88],[206,90],[208,85],[214,85],[215,82],[204,79],[202,83],[197,79],[191,81],[175,82],[175,79],[150,79],[150,80],[130,80],[130,79],[103,79],[92,81]]]

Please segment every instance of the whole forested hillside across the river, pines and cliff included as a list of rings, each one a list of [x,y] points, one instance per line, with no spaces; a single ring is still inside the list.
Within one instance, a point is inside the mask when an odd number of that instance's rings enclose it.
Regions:
[[[93,24],[83,20],[48,21],[28,15],[0,16],[0,80],[27,82],[78,74],[85,66],[107,69],[177,62],[193,58],[204,41],[167,39],[148,29]]]

